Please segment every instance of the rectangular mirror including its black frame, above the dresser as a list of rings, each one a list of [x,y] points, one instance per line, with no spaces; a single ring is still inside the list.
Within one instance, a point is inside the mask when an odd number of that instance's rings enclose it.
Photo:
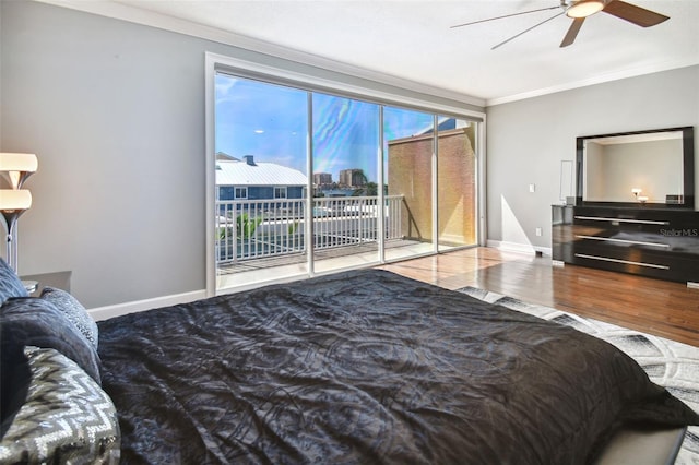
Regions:
[[[694,208],[694,128],[577,139],[577,203]]]

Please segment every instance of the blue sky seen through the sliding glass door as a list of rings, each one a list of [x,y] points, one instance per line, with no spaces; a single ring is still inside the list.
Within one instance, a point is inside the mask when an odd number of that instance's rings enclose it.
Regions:
[[[216,75],[216,152],[254,155],[306,172],[307,93],[250,80]],[[313,93],[313,172],[362,168],[377,180],[379,106]],[[433,117],[384,108],[384,140],[429,128]]]

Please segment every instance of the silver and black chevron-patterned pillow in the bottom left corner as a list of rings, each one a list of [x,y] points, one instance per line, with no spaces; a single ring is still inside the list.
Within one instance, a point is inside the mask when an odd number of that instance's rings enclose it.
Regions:
[[[0,463],[118,464],[121,437],[109,396],[57,350],[25,353],[32,384],[0,441]]]

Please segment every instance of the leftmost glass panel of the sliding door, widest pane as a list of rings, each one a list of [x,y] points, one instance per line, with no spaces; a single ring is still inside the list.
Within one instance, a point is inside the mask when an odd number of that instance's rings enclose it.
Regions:
[[[216,288],[308,273],[308,93],[220,73],[215,97]]]

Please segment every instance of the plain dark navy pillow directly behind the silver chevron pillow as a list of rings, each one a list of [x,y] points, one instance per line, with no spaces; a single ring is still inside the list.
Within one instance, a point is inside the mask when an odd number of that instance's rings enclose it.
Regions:
[[[0,308],[2,350],[20,346],[54,348],[78,363],[97,383],[99,357],[95,347],[51,302],[27,297]]]

